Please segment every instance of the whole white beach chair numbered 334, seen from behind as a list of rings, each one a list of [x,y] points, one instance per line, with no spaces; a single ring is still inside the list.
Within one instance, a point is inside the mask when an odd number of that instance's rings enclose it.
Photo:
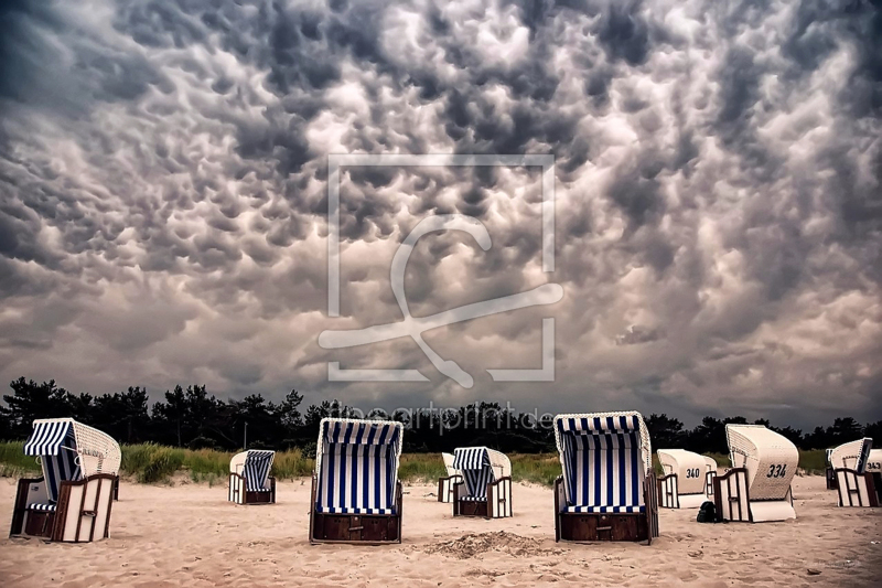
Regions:
[[[762,425],[727,425],[732,468],[713,481],[717,518],[762,523],[796,518],[790,483],[799,451]]]

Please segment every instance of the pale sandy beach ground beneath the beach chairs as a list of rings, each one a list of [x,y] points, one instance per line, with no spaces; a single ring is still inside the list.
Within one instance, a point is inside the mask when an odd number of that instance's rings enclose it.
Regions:
[[[795,480],[796,521],[663,509],[652,546],[556,544],[551,491],[520,484],[514,518],[454,521],[433,487],[408,485],[401,545],[311,546],[309,492],[280,482],[276,505],[236,506],[225,485],[123,482],[106,541],[0,541],[0,586],[882,586],[882,509],[837,507],[821,477]],[[0,480],[0,528],[13,498]]]

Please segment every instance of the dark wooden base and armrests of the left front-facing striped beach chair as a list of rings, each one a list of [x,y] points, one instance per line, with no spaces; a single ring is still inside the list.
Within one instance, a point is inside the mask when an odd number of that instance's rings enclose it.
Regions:
[[[396,487],[396,514],[330,514],[315,512],[318,484],[312,477],[310,543],[401,543],[401,482]]]

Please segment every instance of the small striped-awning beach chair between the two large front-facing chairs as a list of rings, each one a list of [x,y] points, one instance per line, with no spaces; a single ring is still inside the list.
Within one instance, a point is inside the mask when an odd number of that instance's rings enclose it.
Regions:
[[[459,448],[453,467],[463,478],[453,485],[453,516],[513,516],[512,462],[504,453],[486,447]]]

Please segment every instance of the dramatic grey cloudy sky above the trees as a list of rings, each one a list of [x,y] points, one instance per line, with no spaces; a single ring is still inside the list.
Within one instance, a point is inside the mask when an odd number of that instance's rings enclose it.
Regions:
[[[3,2],[0,379],[100,394],[297,387],[362,407],[882,418],[876,1]],[[329,153],[552,154],[541,169],[341,170]],[[344,350],[415,317],[558,284],[557,303]],[[555,318],[555,382],[538,368]],[[343,368],[426,382],[329,382]]]

